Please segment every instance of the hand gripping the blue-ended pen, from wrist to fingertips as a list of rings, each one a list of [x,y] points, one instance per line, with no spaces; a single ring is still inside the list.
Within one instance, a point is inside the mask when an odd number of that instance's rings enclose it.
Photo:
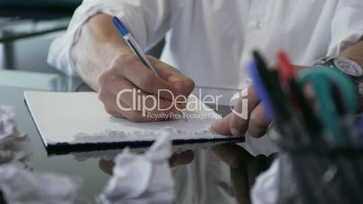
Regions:
[[[160,60],[148,58],[160,78],[131,51],[117,55],[99,75],[98,97],[108,114],[134,122],[160,121],[180,114],[182,104],[177,108],[174,99],[187,98],[194,88],[193,80]]]

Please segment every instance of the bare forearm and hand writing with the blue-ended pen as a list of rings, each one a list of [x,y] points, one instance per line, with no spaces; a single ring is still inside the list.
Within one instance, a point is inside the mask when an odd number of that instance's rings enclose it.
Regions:
[[[155,76],[141,60],[135,57],[133,51],[112,24],[111,18],[107,14],[96,14],[82,27],[79,41],[71,51],[80,77],[91,88],[98,91],[99,99],[105,105],[107,113],[112,116],[126,117],[135,122],[145,122],[166,119],[164,117],[156,119],[147,117],[146,112],[149,114],[178,114],[179,111],[172,106],[172,95],[188,97],[194,88],[194,82],[182,75],[180,71],[150,57],[161,79]],[[133,88],[135,88],[135,95],[130,93]],[[152,108],[155,104],[154,99],[156,101],[159,99],[158,91],[161,89],[169,92],[163,91],[160,103]],[[116,101],[120,91],[124,92]],[[141,99],[140,103],[137,101],[138,98]],[[158,106],[160,109],[167,110],[160,111]],[[143,110],[145,110],[144,115]]]

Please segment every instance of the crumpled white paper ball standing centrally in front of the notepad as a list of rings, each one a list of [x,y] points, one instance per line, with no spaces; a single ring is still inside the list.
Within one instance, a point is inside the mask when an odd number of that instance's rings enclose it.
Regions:
[[[163,134],[144,154],[126,149],[115,159],[113,175],[98,196],[102,204],[167,204],[175,199],[168,159],[172,155],[170,134]]]

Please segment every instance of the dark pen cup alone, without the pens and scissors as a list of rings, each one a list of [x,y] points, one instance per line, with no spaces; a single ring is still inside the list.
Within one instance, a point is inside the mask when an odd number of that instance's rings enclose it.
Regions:
[[[363,203],[363,149],[290,149],[279,159],[278,203]]]

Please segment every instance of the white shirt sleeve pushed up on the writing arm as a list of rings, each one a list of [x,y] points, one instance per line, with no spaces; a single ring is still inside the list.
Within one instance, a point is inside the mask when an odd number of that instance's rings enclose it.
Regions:
[[[182,0],[84,0],[73,14],[67,32],[51,42],[48,63],[68,76],[79,76],[70,51],[83,24],[95,14],[116,15],[146,49],[171,29],[182,5]]]

